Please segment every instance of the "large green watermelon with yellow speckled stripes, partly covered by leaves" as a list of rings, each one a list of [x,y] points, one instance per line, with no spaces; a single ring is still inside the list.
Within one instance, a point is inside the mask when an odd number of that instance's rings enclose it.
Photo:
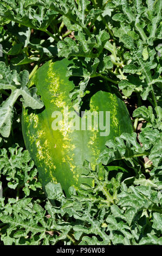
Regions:
[[[44,108],[23,108],[22,112],[24,142],[38,168],[43,189],[50,181],[60,182],[67,196],[70,186],[77,190],[82,182],[90,184],[88,178],[81,177],[86,171],[85,160],[94,167],[108,139],[133,131],[125,103],[115,94],[99,90],[90,98],[89,109],[81,114],[74,111],[69,97],[74,82],[66,77],[69,64],[67,59],[50,60],[36,71],[29,88],[36,86]],[[100,119],[96,113],[101,114]]]

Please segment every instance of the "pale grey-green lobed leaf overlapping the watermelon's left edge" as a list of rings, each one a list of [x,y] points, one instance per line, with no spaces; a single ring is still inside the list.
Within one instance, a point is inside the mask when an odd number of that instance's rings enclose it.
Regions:
[[[12,117],[14,114],[14,104],[19,96],[22,96],[23,105],[33,109],[43,107],[43,102],[36,95],[36,88],[28,89],[29,72],[24,70],[17,74],[16,70],[10,70],[3,62],[0,62],[1,79],[0,89],[11,90],[8,99],[0,106],[0,133],[3,137],[9,137]]]

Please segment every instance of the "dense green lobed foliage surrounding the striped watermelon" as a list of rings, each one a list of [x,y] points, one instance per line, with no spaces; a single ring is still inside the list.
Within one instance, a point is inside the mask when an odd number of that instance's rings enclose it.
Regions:
[[[2,244],[162,244],[161,9],[160,0],[1,0]],[[75,111],[94,81],[107,82],[125,100],[134,132],[108,140],[96,167],[84,162],[93,186],[71,187],[66,198],[49,182],[46,198],[25,149],[21,112],[22,105],[41,111],[28,81],[61,58],[73,59],[66,76],[79,81],[69,94]]]

